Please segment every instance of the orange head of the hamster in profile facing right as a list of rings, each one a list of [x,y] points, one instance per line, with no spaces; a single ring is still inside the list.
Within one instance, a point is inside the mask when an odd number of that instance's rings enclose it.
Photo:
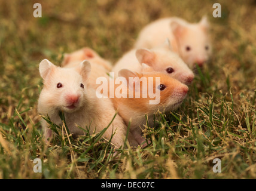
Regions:
[[[174,110],[178,108],[184,98],[187,96],[188,87],[185,84],[182,84],[178,80],[170,77],[169,75],[165,75],[161,72],[142,72],[142,73],[135,73],[128,69],[122,69],[118,73],[120,77],[123,77],[126,79],[126,81],[129,81],[130,77],[133,77],[135,81],[140,83],[140,91],[143,91],[143,85],[144,82],[141,79],[145,79],[147,81],[148,85],[148,97],[147,98],[124,98],[124,101],[127,101],[127,105],[129,107],[133,107],[135,110],[139,110],[141,112],[147,113],[149,112],[155,112],[156,110]],[[138,77],[136,79],[136,77]],[[157,78],[160,78],[160,81],[157,81]],[[153,79],[153,83],[149,83],[150,80]],[[128,84],[128,83],[127,83]],[[152,96],[150,95],[150,87],[149,85],[153,85],[153,93],[156,94],[157,91],[160,93],[160,102],[159,104],[149,104],[149,100],[152,100]],[[132,87],[127,85],[127,88],[134,88],[133,92],[136,92],[136,87],[133,85]],[[128,92],[128,91],[127,91]],[[143,94],[143,93],[142,93]],[[130,103],[129,101],[132,101]],[[146,112],[147,111],[147,112]]]

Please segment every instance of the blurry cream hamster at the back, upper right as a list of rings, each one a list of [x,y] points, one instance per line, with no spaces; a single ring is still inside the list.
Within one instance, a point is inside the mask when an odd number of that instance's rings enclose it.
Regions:
[[[211,57],[209,23],[203,17],[199,23],[188,23],[177,17],[159,19],[148,24],[139,33],[135,48],[153,48],[168,38],[170,44],[190,68],[203,66]]]

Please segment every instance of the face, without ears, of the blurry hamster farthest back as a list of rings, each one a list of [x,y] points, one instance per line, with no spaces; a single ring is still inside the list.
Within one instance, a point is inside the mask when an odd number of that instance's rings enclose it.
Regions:
[[[179,39],[179,51],[188,66],[193,67],[197,63],[202,67],[211,56],[211,43],[205,30],[200,26],[185,30]]]

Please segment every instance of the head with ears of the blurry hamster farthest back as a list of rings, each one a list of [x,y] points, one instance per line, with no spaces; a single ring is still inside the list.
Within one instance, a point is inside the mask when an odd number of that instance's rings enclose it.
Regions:
[[[178,44],[179,54],[185,63],[191,68],[196,63],[202,67],[211,56],[209,23],[206,17],[196,24],[173,20],[170,27]]]

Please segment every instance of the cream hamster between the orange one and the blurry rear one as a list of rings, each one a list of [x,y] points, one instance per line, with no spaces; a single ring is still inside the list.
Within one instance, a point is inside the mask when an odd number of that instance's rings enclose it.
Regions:
[[[178,56],[171,51],[169,40],[167,39],[158,47],[148,50],[147,48],[139,48],[130,50],[117,61],[112,71],[115,76],[121,69],[129,69],[133,72],[141,73],[143,71],[142,64],[147,64],[157,72],[163,72],[170,77],[178,79],[183,84],[190,85],[194,79],[194,73]]]

